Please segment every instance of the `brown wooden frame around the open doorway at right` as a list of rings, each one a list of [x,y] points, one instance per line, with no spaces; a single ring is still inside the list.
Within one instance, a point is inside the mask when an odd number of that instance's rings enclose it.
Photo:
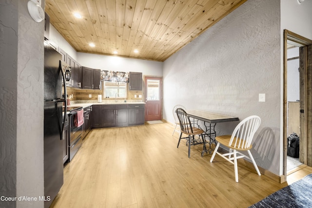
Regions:
[[[283,177],[284,181],[287,181],[287,41],[290,40],[298,45],[307,46],[312,44],[312,40],[304,38],[298,34],[295,34],[289,30],[284,30],[284,53],[283,53]],[[299,49],[300,50],[300,49]],[[304,60],[300,57],[300,62],[307,62],[307,56],[304,56]],[[306,68],[306,66],[305,66]],[[305,74],[303,74],[303,72]],[[303,164],[307,165],[307,142],[308,142],[308,97],[307,97],[307,70],[300,69],[300,108],[304,108],[304,113],[300,113],[300,155],[299,158],[302,160]],[[303,81],[303,84],[301,84]],[[302,85],[304,86],[302,88]],[[311,105],[312,103],[310,103]],[[283,180],[281,181],[283,182]]]

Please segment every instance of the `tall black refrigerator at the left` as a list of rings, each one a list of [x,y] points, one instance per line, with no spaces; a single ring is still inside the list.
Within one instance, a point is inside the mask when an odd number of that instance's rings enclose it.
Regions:
[[[63,185],[62,106],[66,105],[66,84],[61,55],[44,46],[44,207],[50,207]],[[62,89],[64,88],[64,91]],[[64,93],[64,97],[62,96]],[[66,108],[65,108],[66,109]],[[65,117],[65,116],[64,116]]]

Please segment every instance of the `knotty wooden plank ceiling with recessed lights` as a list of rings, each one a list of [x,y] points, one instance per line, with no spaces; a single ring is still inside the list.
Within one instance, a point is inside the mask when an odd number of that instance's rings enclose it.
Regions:
[[[78,52],[164,61],[245,1],[45,0],[45,11]]]

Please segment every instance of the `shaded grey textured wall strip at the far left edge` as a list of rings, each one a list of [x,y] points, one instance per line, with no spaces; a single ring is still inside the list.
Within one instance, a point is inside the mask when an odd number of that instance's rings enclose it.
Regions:
[[[17,7],[0,1],[0,196],[16,196]],[[0,201],[0,207],[15,204]]]

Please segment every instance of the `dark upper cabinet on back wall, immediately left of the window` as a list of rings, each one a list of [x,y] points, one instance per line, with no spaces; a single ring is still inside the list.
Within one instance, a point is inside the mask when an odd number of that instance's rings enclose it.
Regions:
[[[91,90],[101,89],[101,70],[82,67],[82,88]]]

